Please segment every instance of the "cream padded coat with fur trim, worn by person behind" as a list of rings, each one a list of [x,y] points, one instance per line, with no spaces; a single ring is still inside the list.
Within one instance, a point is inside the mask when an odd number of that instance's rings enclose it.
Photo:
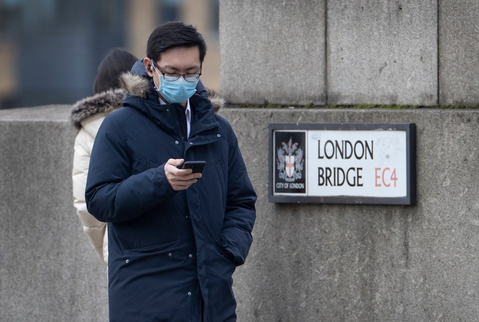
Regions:
[[[79,129],[73,155],[73,205],[90,244],[99,258],[108,264],[108,229],[106,223],[90,215],[85,204],[85,185],[91,149],[101,122],[113,110],[120,108],[125,98],[123,90],[111,90],[80,100],[71,108],[70,121]]]

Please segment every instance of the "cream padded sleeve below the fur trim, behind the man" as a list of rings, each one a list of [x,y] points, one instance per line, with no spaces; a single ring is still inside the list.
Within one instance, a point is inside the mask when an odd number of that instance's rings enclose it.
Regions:
[[[76,208],[76,214],[83,225],[83,231],[88,237],[90,244],[95,248],[100,259],[106,263],[103,256],[103,244],[106,230],[106,223],[98,221],[88,213],[85,204],[85,185],[88,175],[88,163],[90,161],[91,146],[93,137],[81,129],[76,138],[73,152],[73,206]]]

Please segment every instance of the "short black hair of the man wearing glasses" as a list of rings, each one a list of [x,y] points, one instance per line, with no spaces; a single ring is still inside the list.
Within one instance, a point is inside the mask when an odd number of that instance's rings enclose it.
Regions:
[[[159,25],[148,38],[146,56],[155,62],[161,58],[161,53],[175,47],[195,47],[200,51],[200,62],[206,55],[206,43],[201,33],[191,24],[181,21],[170,21]]]

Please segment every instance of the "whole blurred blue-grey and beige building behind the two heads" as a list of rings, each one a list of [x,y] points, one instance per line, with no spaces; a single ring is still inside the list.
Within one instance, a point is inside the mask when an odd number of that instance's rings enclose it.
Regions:
[[[193,24],[208,45],[205,86],[220,89],[219,0],[0,0],[0,108],[72,104],[93,94],[111,47],[145,57],[163,22]]]

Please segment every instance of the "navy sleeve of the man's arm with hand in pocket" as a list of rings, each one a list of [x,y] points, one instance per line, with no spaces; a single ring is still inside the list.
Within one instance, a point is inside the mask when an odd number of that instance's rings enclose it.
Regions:
[[[251,231],[256,219],[256,193],[241,156],[238,140],[231,129],[229,137],[228,191],[222,246],[231,253],[237,266],[244,263],[252,243]]]

